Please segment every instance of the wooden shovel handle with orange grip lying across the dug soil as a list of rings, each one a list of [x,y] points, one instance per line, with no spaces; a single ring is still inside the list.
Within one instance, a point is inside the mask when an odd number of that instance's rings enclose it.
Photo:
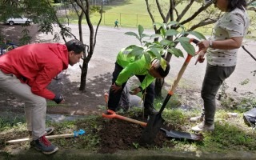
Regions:
[[[107,110],[107,114],[102,114],[102,117],[103,118],[118,118],[118,119],[122,119],[127,122],[133,122],[133,123],[139,124],[141,126],[146,126],[146,122],[141,122],[136,119],[127,118],[122,115],[118,115],[113,110]]]

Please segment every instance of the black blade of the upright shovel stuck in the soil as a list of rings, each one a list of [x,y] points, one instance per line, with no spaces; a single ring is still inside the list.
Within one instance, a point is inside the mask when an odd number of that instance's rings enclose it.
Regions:
[[[141,145],[151,144],[154,142],[154,138],[158,134],[163,122],[161,114],[150,115],[150,120],[147,122],[145,129],[142,132],[142,137],[139,140]]]

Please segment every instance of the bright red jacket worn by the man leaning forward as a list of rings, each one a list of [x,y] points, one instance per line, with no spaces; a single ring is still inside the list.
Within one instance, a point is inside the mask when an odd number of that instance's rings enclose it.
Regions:
[[[34,94],[53,99],[55,94],[46,87],[69,65],[66,45],[36,43],[20,46],[0,57],[0,70],[14,74],[31,86]]]

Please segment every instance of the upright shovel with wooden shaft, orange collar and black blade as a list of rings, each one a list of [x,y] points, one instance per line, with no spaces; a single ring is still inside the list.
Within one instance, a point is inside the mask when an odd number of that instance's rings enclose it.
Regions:
[[[198,40],[191,38],[190,42],[194,42],[197,44]],[[165,120],[162,118],[162,111],[165,109],[166,104],[169,101],[170,97],[174,94],[174,90],[178,86],[178,82],[182,78],[182,74],[186,70],[186,66],[188,66],[191,58],[192,56],[188,54],[185,62],[182,65],[181,70],[179,70],[178,72],[177,78],[174,80],[173,86],[171,86],[169,93],[167,94],[164,102],[162,103],[162,107],[159,110],[158,114],[150,115],[150,120],[142,132],[142,137],[140,138],[140,141],[139,141],[140,144],[143,145],[143,144],[150,144],[154,142],[154,138],[158,134],[160,127],[162,126],[163,122],[165,122]],[[180,135],[180,138],[182,138],[182,134]]]

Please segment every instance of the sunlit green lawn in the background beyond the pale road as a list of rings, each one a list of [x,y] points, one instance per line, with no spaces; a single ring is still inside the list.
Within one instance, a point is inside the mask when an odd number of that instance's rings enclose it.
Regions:
[[[158,9],[156,7],[156,4],[154,1],[150,2],[150,10],[152,14],[154,15],[155,22],[162,22],[162,18],[158,12]],[[162,4],[162,10],[163,14],[166,15],[166,12],[169,8],[169,0],[162,0],[160,1]],[[153,3],[153,4],[152,4]],[[184,7],[186,6],[185,3],[182,5],[177,6],[178,13],[180,14]],[[182,20],[185,18],[190,17],[191,14],[193,14],[198,8],[200,7],[200,4],[194,2],[194,5],[190,8],[190,10],[187,11],[186,15]],[[212,6],[214,7],[214,6]],[[138,25],[144,26],[144,28],[152,28],[152,21],[150,18],[150,15],[147,12],[146,9],[146,2],[142,0],[116,0],[112,2],[110,5],[104,5],[103,6],[104,13],[102,14],[102,26],[114,26],[114,21],[118,19],[119,26],[121,27],[138,27]],[[254,38],[253,35],[255,35],[255,26],[254,26],[254,18],[255,12],[254,11],[248,11],[250,14],[251,19],[251,26],[250,26],[250,36],[249,38]],[[100,14],[91,14],[90,20],[94,25],[98,24],[98,20],[100,18]],[[200,20],[200,16],[197,18],[194,18],[192,22],[186,23],[186,28],[189,28],[190,26],[196,24]],[[66,18],[62,18],[62,22],[66,22]],[[175,17],[174,17],[175,19]],[[78,18],[74,12],[70,12],[69,14],[69,20],[71,23],[78,23]],[[86,20],[84,19],[83,23],[86,23]],[[205,35],[210,35],[212,32],[212,26],[203,26],[199,29],[197,29],[198,32],[201,32]]]

